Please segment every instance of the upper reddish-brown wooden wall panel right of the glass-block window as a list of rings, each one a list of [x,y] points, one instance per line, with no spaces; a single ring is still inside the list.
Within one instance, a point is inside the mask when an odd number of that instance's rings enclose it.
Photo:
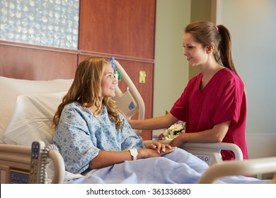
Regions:
[[[155,0],[81,0],[79,49],[154,59]]]

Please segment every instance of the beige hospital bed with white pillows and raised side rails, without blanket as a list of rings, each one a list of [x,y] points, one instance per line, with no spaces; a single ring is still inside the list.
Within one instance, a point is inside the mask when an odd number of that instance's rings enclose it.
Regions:
[[[125,93],[117,87],[115,100],[128,118],[138,112],[138,118],[144,119],[144,102],[139,91],[119,62],[115,61],[115,66],[128,86]],[[71,82],[72,80],[61,79],[28,81],[0,76],[2,110],[5,110],[1,113],[1,122],[8,121],[8,124],[1,123],[1,183],[64,182],[64,161],[57,148],[52,145],[53,131],[50,126],[52,115]],[[8,107],[10,104],[12,107]],[[151,142],[147,140],[144,144]],[[228,175],[260,173],[275,173],[270,182],[276,183],[276,157],[243,161],[241,149],[234,144],[225,143],[185,143],[181,148],[209,165],[209,169],[200,178],[200,183],[213,183]],[[236,161],[222,161],[221,150],[233,151]]]

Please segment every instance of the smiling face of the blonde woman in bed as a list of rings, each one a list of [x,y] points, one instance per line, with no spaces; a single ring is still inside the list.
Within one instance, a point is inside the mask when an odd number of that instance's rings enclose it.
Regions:
[[[103,97],[114,97],[115,86],[117,79],[115,78],[114,70],[111,64],[107,64],[103,67],[103,78],[100,81]]]

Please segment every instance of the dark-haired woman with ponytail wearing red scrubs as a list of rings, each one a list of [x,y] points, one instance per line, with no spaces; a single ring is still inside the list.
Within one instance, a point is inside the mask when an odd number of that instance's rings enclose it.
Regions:
[[[190,142],[228,142],[246,146],[246,94],[231,55],[231,37],[224,25],[209,21],[190,23],[183,34],[184,55],[190,66],[201,73],[192,78],[166,116],[149,120],[130,120],[133,129],[168,128],[177,120],[186,123],[185,134],[171,146]],[[222,151],[224,160],[234,159],[231,151]]]

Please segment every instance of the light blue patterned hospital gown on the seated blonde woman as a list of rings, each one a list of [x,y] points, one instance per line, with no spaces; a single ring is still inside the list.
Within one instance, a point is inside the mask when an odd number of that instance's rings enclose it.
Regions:
[[[98,117],[84,110],[79,103],[65,105],[54,132],[54,144],[64,158],[66,170],[83,173],[99,151],[144,148],[142,138],[135,134],[125,117],[121,114],[120,117],[125,126],[115,129],[115,123],[109,119],[105,105]]]

